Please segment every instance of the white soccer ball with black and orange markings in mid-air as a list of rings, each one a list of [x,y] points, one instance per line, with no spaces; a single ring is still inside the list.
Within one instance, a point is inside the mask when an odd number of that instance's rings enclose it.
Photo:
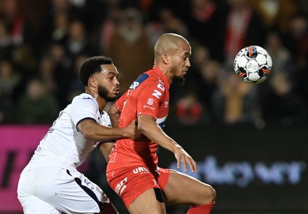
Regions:
[[[260,46],[247,46],[235,57],[235,73],[246,83],[262,83],[272,71],[272,58]]]

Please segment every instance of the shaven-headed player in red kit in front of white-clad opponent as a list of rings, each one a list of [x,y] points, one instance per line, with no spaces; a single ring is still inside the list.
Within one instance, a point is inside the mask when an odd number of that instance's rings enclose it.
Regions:
[[[113,126],[126,127],[134,119],[145,140],[118,140],[107,166],[107,180],[132,214],[166,213],[165,204],[190,204],[188,214],[209,214],[216,192],[176,170],[158,167],[158,145],[174,153],[178,168],[192,172],[197,164],[164,131],[169,111],[169,86],[183,84],[190,67],[190,44],[178,34],[163,34],[154,48],[153,69],[141,74],[109,110]]]

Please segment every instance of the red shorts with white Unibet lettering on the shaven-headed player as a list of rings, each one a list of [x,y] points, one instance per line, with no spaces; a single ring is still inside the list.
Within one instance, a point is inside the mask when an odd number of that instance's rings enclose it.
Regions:
[[[158,168],[158,170],[151,172],[144,165],[110,170],[106,177],[111,189],[120,196],[128,208],[146,190],[151,188],[165,189],[169,175],[169,169]]]

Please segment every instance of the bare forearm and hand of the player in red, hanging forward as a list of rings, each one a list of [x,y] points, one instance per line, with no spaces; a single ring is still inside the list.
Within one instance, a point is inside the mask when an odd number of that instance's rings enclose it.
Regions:
[[[173,152],[177,160],[178,168],[180,168],[181,163],[183,163],[186,171],[188,170],[187,164],[192,172],[197,171],[197,164],[193,158],[175,140],[162,131],[153,116],[140,114],[138,116],[138,129],[146,135],[148,139],[168,149],[170,152]]]

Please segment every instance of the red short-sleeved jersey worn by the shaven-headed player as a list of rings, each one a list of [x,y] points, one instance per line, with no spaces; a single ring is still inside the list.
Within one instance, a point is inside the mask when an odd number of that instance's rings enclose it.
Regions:
[[[169,112],[169,82],[158,67],[141,74],[130,89],[116,101],[120,110],[119,127],[126,127],[140,114],[151,115],[161,128]],[[109,170],[146,163],[155,170],[158,165],[156,155],[158,144],[130,139],[118,140],[110,154]]]

